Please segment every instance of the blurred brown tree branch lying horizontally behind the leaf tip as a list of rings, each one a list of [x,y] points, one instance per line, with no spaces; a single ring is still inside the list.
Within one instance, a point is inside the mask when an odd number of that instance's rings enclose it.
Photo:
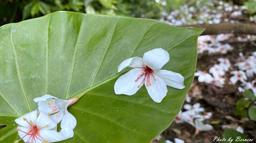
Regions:
[[[181,26],[206,28],[201,35],[226,34],[226,33],[256,35],[256,24],[226,22],[226,23],[218,23],[218,24],[192,24],[192,25],[181,25]]]

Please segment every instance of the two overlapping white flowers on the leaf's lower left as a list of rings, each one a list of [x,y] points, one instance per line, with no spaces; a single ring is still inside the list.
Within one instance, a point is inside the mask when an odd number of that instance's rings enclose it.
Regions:
[[[68,106],[77,102],[78,98],[58,99],[51,95],[35,98],[38,110],[27,113],[15,120],[20,140],[24,142],[49,143],[65,140],[74,136],[76,119],[68,112]],[[57,132],[57,124],[61,121],[61,130]]]

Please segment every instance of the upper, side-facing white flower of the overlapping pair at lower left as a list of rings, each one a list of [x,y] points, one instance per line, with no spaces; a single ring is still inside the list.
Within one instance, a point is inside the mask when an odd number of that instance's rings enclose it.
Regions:
[[[60,127],[64,131],[69,128],[74,129],[76,126],[76,119],[69,113],[68,106],[77,100],[78,98],[63,100],[48,94],[34,99],[35,102],[38,102],[38,109],[46,113],[55,123],[62,120]]]

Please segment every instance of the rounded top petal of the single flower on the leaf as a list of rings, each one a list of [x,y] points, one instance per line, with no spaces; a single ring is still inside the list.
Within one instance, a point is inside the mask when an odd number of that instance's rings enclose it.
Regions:
[[[169,59],[169,53],[166,50],[157,48],[144,53],[143,64],[156,71],[160,70]]]

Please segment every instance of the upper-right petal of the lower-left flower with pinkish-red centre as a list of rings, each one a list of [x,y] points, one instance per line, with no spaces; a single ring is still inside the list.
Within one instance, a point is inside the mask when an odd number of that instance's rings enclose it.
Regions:
[[[45,127],[46,125],[48,125],[49,127]],[[36,126],[38,127],[45,127],[45,128],[42,128],[42,130],[50,130],[50,129],[53,129],[57,126],[57,124],[55,122],[52,121],[52,119],[46,115],[45,113],[43,112],[40,112],[38,118],[37,118],[37,121],[36,121]]]

